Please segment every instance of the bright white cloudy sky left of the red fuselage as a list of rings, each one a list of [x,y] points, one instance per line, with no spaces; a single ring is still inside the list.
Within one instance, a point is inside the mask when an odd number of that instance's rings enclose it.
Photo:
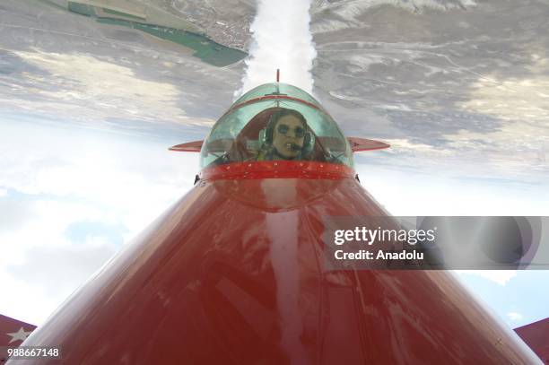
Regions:
[[[61,123],[0,126],[0,313],[39,325],[193,186],[198,156]],[[39,304],[37,304],[39,303]]]

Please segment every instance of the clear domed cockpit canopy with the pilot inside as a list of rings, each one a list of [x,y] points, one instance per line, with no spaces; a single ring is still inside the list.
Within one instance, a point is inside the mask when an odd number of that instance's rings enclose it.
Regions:
[[[248,91],[213,126],[201,166],[243,161],[321,161],[353,167],[351,147],[307,92],[284,83]]]

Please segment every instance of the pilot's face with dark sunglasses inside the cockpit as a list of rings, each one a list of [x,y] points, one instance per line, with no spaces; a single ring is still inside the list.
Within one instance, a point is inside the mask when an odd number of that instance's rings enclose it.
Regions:
[[[278,119],[273,132],[273,146],[284,159],[296,157],[303,147],[305,128],[298,117],[284,116]]]

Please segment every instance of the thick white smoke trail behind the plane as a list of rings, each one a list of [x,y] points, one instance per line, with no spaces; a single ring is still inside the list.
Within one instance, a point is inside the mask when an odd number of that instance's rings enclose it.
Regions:
[[[312,91],[310,71],[317,51],[309,31],[309,7],[310,0],[258,0],[246,74],[235,97],[262,83],[274,83],[277,68],[281,83]]]

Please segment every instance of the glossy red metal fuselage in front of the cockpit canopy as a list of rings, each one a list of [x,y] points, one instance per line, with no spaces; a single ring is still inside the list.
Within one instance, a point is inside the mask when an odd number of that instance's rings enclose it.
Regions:
[[[448,272],[324,269],[324,217],[385,213],[353,178],[202,180],[24,344],[67,364],[537,363]]]

